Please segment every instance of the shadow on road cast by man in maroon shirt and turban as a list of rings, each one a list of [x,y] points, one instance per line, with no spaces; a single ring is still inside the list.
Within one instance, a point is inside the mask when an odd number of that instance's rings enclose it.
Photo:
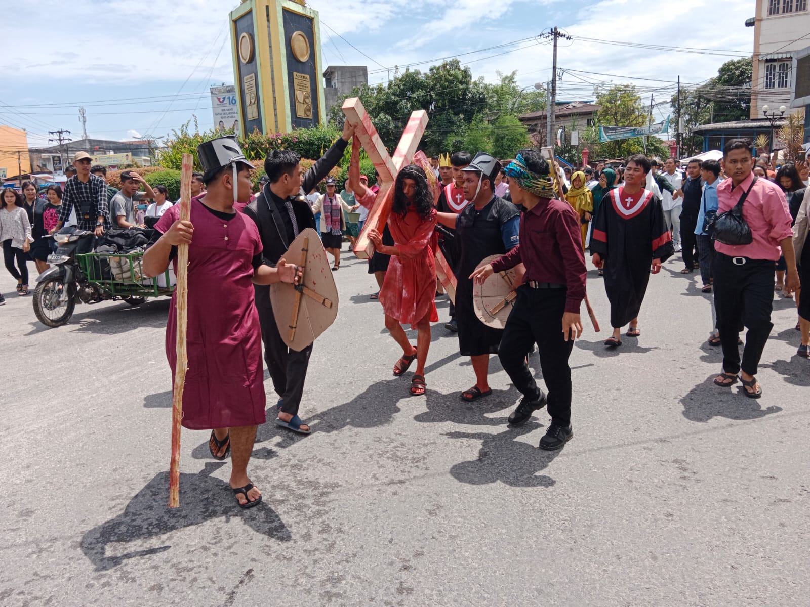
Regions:
[[[475,461],[463,461],[452,468],[450,474],[459,482],[470,485],[487,485],[500,481],[513,487],[551,487],[556,481],[544,474],[544,470],[560,451],[543,451],[535,445],[515,440],[542,427],[532,420],[524,426],[509,428],[499,434],[475,432],[447,432],[451,439],[480,439],[481,449]],[[539,441],[539,436],[538,436]]]

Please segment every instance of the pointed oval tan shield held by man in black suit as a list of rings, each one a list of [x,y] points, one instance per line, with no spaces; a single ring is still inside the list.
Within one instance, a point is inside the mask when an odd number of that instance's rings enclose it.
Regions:
[[[338,289],[317,231],[308,227],[292,241],[284,259],[304,268],[301,288],[287,282],[270,287],[275,323],[283,342],[301,351],[338,316]]]

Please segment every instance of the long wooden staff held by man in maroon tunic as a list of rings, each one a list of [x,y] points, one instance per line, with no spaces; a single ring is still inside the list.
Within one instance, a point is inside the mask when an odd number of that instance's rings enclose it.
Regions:
[[[180,219],[188,221],[191,216],[191,172],[194,159],[183,155],[180,180]],[[168,507],[180,505],[180,424],[183,419],[183,388],[189,359],[185,354],[185,333],[189,324],[189,245],[177,247],[177,287],[174,309],[177,312],[177,361],[174,365],[174,390],[172,395],[172,463],[168,473]]]

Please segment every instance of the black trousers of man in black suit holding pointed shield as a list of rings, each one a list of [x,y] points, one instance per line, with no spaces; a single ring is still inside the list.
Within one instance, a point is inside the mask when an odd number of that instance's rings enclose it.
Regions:
[[[267,290],[267,287],[257,287]],[[273,388],[279,397],[283,398],[281,410],[292,415],[298,414],[301,397],[304,394],[306,371],[309,367],[309,356],[312,354],[312,345],[297,352],[287,347],[281,339],[279,328],[275,324],[273,308],[268,295],[256,295],[256,309],[258,322],[262,327],[262,342],[264,342],[264,362],[267,371],[270,371]]]

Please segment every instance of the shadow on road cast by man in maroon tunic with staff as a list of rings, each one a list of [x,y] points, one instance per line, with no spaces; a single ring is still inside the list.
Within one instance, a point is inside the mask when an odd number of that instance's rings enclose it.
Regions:
[[[132,541],[148,540],[220,516],[239,517],[255,532],[277,541],[292,540],[283,520],[266,502],[250,510],[237,507],[228,483],[211,477],[211,473],[223,465],[209,463],[198,474],[181,473],[181,505],[178,508],[166,505],[168,472],[158,474],[134,496],[122,514],[84,533],[81,541],[83,554],[95,565],[96,571],[107,571],[127,559],[158,554],[172,548],[169,544],[124,551],[126,544]],[[216,548],[220,543],[218,532],[207,537],[211,548]],[[117,544],[116,551],[123,554],[107,554],[113,544]]]

